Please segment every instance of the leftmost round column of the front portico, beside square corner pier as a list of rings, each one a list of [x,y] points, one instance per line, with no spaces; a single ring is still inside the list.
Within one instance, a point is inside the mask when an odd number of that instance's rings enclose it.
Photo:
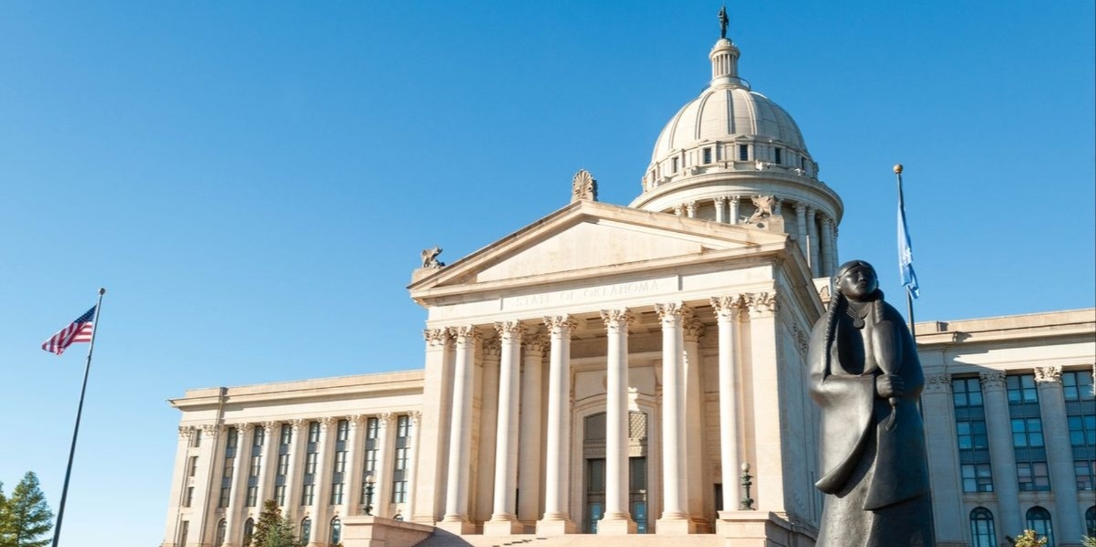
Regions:
[[[446,474],[445,516],[438,527],[453,534],[471,534],[468,520],[468,482],[471,463],[472,378],[476,374],[476,327],[450,329],[456,341],[457,358],[453,373],[453,426],[449,430],[449,460]]]

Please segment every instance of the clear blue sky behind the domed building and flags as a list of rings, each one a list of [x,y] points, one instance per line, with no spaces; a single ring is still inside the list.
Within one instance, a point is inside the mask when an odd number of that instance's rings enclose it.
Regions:
[[[28,2],[0,18],[0,480],[62,545],[162,539],[186,388],[419,368],[419,251],[627,204],[707,83],[718,1]],[[845,200],[841,253],[918,320],[1094,305],[1094,3],[730,2],[741,75]]]

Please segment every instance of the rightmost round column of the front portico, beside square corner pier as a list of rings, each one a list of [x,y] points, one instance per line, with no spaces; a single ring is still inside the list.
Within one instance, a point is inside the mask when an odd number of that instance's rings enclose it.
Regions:
[[[719,454],[723,481],[723,511],[739,503],[739,316],[742,295],[711,299],[719,326]],[[722,518],[726,515],[720,515]]]

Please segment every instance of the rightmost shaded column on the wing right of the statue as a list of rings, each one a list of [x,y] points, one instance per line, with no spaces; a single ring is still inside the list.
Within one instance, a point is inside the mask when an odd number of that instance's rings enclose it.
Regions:
[[[1081,508],[1070,503],[1077,499],[1077,477],[1073,466],[1073,447],[1065,419],[1065,394],[1062,391],[1062,367],[1036,367],[1035,381],[1039,390],[1039,410],[1046,432],[1047,465],[1050,468],[1050,490],[1054,492],[1059,544],[1075,542],[1085,532],[1081,528]],[[1089,409],[1092,406],[1088,407]]]

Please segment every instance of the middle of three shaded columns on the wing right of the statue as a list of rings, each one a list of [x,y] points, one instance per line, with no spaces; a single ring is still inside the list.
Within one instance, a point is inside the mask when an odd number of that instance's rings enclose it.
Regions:
[[[1016,485],[1016,454],[1013,452],[1012,423],[1008,419],[1008,394],[1005,373],[990,371],[979,374],[982,380],[982,402],[985,406],[985,431],[990,437],[990,470],[993,489],[997,492],[1001,517],[997,529],[1024,529],[1020,515],[1019,487]]]

